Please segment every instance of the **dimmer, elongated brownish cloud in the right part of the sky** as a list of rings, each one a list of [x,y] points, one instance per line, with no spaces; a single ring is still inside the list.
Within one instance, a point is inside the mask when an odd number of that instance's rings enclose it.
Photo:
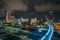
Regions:
[[[57,11],[57,10],[60,10],[60,4],[55,5],[55,4],[47,3],[47,4],[42,4],[40,6],[36,5],[35,10],[40,12],[48,11],[48,10]]]

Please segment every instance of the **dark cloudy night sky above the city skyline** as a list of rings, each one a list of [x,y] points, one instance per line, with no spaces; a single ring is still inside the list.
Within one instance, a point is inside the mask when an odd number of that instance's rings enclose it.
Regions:
[[[0,0],[0,11],[1,9],[10,10],[16,17],[38,17],[51,10],[58,18],[60,17],[60,0]],[[0,17],[4,15],[0,13]]]

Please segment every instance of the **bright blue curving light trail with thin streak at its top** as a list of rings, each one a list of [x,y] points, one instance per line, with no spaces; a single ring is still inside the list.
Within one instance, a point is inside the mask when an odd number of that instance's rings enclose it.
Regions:
[[[46,17],[46,16],[45,16]],[[51,40],[51,37],[53,35],[53,31],[54,31],[54,27],[53,25],[51,24],[51,22],[48,20],[48,18],[46,17],[47,21],[48,21],[48,27],[49,27],[49,30],[48,32],[42,37],[41,40]]]

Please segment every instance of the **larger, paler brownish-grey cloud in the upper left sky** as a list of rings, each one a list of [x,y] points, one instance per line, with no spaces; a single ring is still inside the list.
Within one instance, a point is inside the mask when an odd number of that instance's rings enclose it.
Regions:
[[[8,5],[7,9],[27,11],[27,6],[21,0],[5,0],[5,2]]]

